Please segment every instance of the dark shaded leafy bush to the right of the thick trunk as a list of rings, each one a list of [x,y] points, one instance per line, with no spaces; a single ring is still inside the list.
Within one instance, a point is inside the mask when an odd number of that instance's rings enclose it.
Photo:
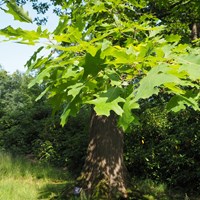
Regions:
[[[139,115],[141,124],[126,134],[129,171],[170,188],[199,191],[199,112],[188,108],[175,115],[163,106],[151,105]]]

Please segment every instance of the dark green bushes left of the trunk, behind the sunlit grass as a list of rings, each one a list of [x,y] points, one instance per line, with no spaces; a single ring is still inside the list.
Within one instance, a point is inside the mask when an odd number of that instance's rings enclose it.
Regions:
[[[0,149],[12,154],[31,154],[42,163],[78,173],[83,166],[90,109],[84,108],[68,126],[60,127],[45,97],[35,102],[41,87],[28,89],[33,78],[1,70]]]

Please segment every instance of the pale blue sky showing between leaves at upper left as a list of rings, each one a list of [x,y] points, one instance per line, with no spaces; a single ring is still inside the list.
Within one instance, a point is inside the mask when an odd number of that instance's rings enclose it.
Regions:
[[[34,19],[36,12],[32,10],[31,4],[27,3],[27,5],[24,6],[24,9],[27,10],[31,18]],[[58,24],[58,17],[53,14],[52,10],[46,13],[45,16],[48,16],[48,22],[44,28],[47,28],[50,31],[54,30]],[[26,30],[37,29],[36,24],[16,21],[12,15],[7,14],[0,9],[0,29],[3,29],[9,25],[11,25],[13,28],[20,27]],[[27,60],[29,60],[39,46],[40,45],[29,46],[14,42],[1,42],[0,37],[0,65],[9,73],[13,73],[16,70],[25,72],[25,63]]]

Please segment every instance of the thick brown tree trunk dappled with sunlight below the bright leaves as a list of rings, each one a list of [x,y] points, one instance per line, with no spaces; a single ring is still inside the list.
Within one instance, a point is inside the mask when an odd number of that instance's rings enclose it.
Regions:
[[[116,116],[97,116],[93,111],[81,187],[91,199],[96,195],[101,199],[115,199],[116,195],[126,198],[125,176],[123,133],[117,127]]]

